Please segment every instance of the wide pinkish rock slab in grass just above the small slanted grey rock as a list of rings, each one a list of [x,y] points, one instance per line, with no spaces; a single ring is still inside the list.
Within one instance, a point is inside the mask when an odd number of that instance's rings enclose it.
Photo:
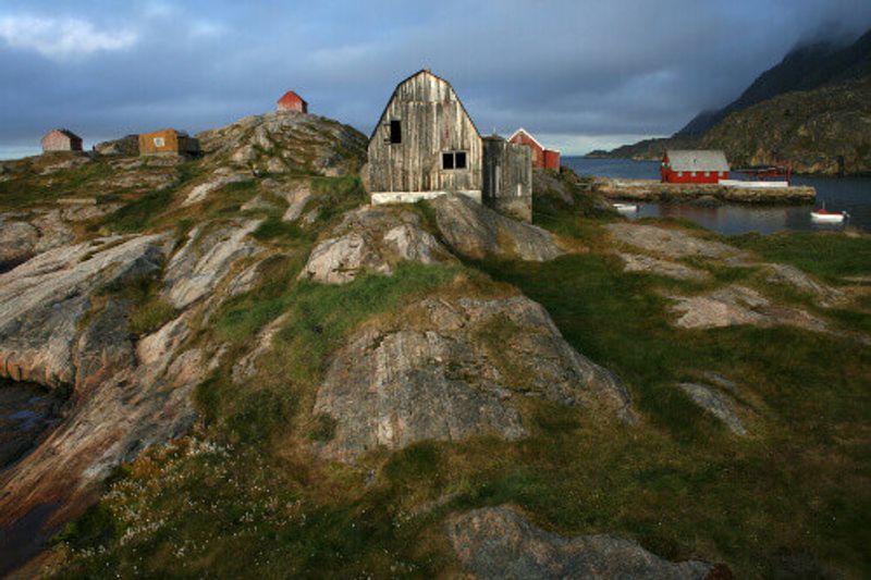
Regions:
[[[772,304],[752,288],[732,285],[697,296],[671,296],[684,329],[715,329],[737,324],[788,325],[825,332],[825,323],[803,310]]]

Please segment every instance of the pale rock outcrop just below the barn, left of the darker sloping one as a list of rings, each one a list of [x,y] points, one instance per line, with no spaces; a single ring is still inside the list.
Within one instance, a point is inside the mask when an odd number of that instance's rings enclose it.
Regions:
[[[300,277],[345,284],[366,270],[390,274],[401,261],[454,259],[416,213],[401,208],[365,206],[347,213],[330,234],[311,250]]]

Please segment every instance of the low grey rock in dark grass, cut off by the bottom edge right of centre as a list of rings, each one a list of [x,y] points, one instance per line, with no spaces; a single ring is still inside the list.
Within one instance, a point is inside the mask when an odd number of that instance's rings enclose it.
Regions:
[[[447,522],[461,564],[481,580],[504,578],[703,579],[714,567],[673,563],[615,535],[565,538],[532,526],[506,507],[475,509]]]

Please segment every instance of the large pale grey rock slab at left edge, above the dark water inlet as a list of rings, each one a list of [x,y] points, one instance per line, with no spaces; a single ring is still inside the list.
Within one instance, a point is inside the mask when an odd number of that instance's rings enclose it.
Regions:
[[[0,275],[0,377],[73,384],[90,295],[160,270],[165,236],[102,238],[47,251]]]

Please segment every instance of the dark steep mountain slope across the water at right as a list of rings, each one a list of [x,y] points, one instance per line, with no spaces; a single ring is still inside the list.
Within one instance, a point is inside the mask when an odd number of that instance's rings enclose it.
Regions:
[[[660,160],[666,149],[724,149],[734,166],[789,161],[799,173],[871,173],[871,30],[847,47],[797,47],[735,101],[671,137],[600,152]]]

